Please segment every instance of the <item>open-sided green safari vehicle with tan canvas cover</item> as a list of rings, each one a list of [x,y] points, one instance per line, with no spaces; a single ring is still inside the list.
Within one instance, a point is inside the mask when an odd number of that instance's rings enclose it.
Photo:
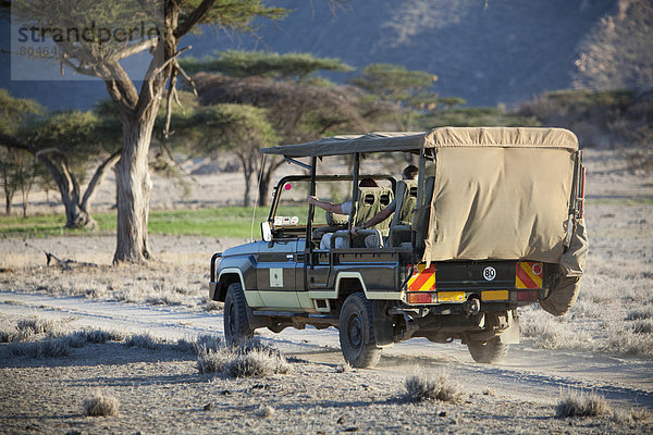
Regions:
[[[310,175],[279,182],[261,241],[211,259],[210,298],[225,303],[230,341],[261,327],[334,326],[357,368],[374,366],[383,347],[412,337],[459,339],[473,360],[493,363],[519,340],[519,307],[539,302],[559,315],[577,298],[587,235],[584,170],[571,132],[445,127],[261,151]],[[389,152],[418,156],[418,179],[360,174],[361,159]],[[353,157],[350,174],[318,175],[344,156]],[[380,187],[359,188],[364,175]],[[337,183],[348,192],[333,188]],[[354,199],[349,216],[330,216],[306,200],[330,192]],[[353,225],[393,198],[392,219],[353,236]],[[331,246],[320,249],[328,232]],[[360,238],[370,232],[381,234],[382,246],[365,247]],[[334,248],[337,238],[345,248]]]

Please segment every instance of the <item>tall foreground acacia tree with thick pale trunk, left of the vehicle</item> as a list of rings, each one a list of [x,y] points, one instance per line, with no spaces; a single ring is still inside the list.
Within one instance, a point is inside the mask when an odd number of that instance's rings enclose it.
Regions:
[[[177,62],[185,51],[178,47],[181,39],[199,24],[246,30],[254,16],[280,17],[284,11],[268,8],[261,0],[14,0],[12,3],[15,17],[34,25],[38,36],[57,44],[62,53],[59,58],[62,69],[104,80],[123,134],[122,152],[115,165],[118,232],[113,262],[146,261],[150,257],[148,150],[165,88],[170,108],[177,76],[187,77]],[[121,38],[107,38],[100,30],[104,27],[122,29]],[[69,35],[57,37],[53,28],[97,32],[83,35],[88,38],[71,40]],[[133,28],[147,28],[147,35],[133,35],[130,33]],[[138,89],[121,61],[145,51],[151,53],[151,60]]]

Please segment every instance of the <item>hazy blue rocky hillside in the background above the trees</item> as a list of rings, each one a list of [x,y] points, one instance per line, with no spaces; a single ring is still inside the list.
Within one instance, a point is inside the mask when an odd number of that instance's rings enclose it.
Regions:
[[[347,0],[335,11],[326,0],[268,2],[292,12],[261,22],[254,36],[206,29],[182,46],[195,57],[237,48],[306,51],[356,67],[403,64],[436,74],[442,96],[472,105],[574,86],[651,86],[650,0]],[[89,108],[107,97],[101,83],[9,82],[8,63],[0,65],[3,87],[50,108]]]

